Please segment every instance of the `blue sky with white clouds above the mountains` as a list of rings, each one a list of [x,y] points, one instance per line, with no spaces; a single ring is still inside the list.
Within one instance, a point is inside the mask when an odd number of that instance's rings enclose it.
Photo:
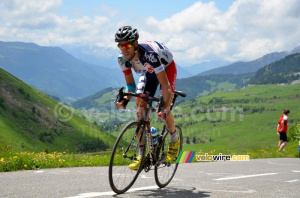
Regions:
[[[1,0],[0,10],[0,41],[117,49],[115,32],[131,25],[182,66],[300,45],[299,0]]]

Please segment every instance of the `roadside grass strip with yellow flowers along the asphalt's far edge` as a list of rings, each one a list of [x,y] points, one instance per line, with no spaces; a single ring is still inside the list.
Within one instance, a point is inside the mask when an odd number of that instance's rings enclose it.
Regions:
[[[275,142],[274,142],[275,144]],[[251,159],[260,158],[295,158],[299,157],[298,142],[290,142],[282,152],[278,152],[277,147],[265,147],[245,152],[202,150],[201,144],[184,145],[183,151],[196,151],[195,155],[249,155]],[[5,153],[5,152],[2,152]],[[70,154],[67,152],[53,153],[34,153],[34,152],[7,152],[0,155],[0,172],[17,170],[37,170],[44,168],[62,168],[62,167],[86,167],[86,166],[108,166],[110,161],[110,152],[101,154]],[[192,162],[197,162],[196,157]]]

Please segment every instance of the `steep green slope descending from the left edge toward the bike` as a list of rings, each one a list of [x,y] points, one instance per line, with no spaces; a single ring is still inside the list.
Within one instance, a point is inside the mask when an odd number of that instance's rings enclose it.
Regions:
[[[115,138],[44,93],[0,69],[0,152],[86,152],[111,148]]]

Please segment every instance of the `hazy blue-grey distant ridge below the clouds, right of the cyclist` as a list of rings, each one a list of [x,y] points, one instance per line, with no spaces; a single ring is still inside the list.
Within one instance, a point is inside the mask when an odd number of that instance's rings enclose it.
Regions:
[[[202,72],[198,75],[205,76],[211,74],[245,74],[256,72],[265,65],[280,60],[288,55],[288,52],[274,52],[250,62],[236,62],[227,66]]]

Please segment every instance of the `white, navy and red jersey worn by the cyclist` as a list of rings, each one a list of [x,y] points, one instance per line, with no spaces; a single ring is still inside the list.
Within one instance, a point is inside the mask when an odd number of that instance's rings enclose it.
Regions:
[[[138,44],[139,60],[128,61],[120,53],[118,57],[119,65],[125,75],[131,73],[131,68],[138,74],[145,72],[158,74],[164,71],[173,61],[173,55],[170,50],[162,43],[156,41],[145,41]]]

